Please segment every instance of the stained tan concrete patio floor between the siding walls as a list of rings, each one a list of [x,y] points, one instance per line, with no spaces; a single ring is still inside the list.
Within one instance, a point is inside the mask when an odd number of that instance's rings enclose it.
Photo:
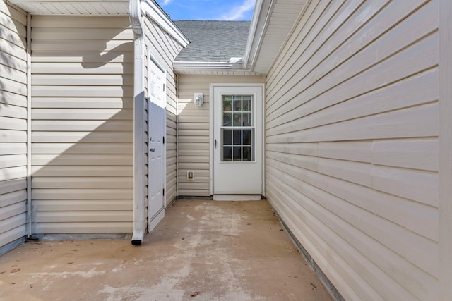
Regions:
[[[179,200],[141,246],[30,241],[0,300],[332,300],[266,201]]]

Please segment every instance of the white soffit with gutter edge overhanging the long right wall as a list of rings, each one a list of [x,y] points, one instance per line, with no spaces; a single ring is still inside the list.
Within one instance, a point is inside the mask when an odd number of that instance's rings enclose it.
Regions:
[[[261,0],[246,47],[247,63],[257,73],[268,73],[276,55],[308,0]],[[258,8],[256,6],[256,8]]]

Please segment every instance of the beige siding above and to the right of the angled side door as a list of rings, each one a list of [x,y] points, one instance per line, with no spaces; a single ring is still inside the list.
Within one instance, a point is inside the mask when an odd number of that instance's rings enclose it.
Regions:
[[[148,82],[148,55],[152,54],[153,59],[157,61],[162,68],[166,70],[167,82],[165,84],[165,90],[167,94],[167,135],[165,139],[165,145],[167,149],[166,157],[166,190],[165,190],[165,205],[169,204],[177,196],[177,183],[176,183],[176,107],[177,107],[177,92],[176,92],[176,75],[172,68],[172,61],[179,53],[182,46],[175,41],[167,32],[163,31],[153,20],[146,19],[144,22],[144,35],[146,45],[146,82],[145,87],[147,89]],[[148,141],[148,140],[146,140]],[[146,181],[147,183],[147,181]]]

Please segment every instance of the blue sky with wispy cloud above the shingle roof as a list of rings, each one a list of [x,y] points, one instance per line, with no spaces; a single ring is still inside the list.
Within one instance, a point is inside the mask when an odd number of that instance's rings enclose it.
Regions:
[[[251,20],[256,0],[156,0],[172,20]]]

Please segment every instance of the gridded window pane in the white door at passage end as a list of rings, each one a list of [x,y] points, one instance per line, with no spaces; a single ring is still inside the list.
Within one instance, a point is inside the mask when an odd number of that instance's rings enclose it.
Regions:
[[[221,161],[254,161],[252,95],[222,95]]]

